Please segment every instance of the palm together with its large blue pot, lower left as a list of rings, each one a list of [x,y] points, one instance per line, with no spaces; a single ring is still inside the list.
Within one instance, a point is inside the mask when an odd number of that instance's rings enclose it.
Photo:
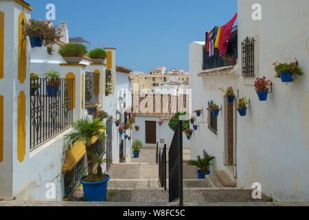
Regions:
[[[76,143],[82,142],[86,146],[88,175],[80,178],[80,183],[83,186],[84,197],[86,201],[106,201],[107,181],[109,175],[102,174],[102,168],[98,167],[98,173],[93,174],[94,162],[105,162],[105,159],[98,159],[93,154],[93,138],[98,138],[99,141],[104,140],[106,129],[102,121],[98,118],[91,122],[88,118],[80,119],[72,123],[73,131],[65,135],[65,144],[67,147],[74,147]]]

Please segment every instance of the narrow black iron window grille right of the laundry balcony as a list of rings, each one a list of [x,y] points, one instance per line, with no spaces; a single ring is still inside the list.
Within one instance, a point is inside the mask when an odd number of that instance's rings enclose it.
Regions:
[[[242,76],[254,77],[254,39],[247,36],[242,42]]]

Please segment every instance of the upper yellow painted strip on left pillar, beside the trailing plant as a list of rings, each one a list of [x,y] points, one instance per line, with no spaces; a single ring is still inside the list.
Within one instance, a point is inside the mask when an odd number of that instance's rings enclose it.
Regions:
[[[19,83],[25,83],[27,74],[27,38],[23,35],[23,25],[22,22],[27,23],[25,18],[25,13],[21,12],[19,14],[19,54],[18,54],[18,79]]]

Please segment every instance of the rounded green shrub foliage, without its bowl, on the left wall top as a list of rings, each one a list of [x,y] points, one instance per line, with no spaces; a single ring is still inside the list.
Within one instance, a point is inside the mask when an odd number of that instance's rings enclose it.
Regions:
[[[87,54],[87,47],[80,43],[66,43],[59,47],[58,53],[63,57],[83,57]]]

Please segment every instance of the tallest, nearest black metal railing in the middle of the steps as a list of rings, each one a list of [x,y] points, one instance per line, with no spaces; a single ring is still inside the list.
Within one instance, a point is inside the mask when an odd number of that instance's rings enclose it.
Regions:
[[[178,122],[170,151],[168,152],[169,201],[179,199],[183,206],[183,123]]]

